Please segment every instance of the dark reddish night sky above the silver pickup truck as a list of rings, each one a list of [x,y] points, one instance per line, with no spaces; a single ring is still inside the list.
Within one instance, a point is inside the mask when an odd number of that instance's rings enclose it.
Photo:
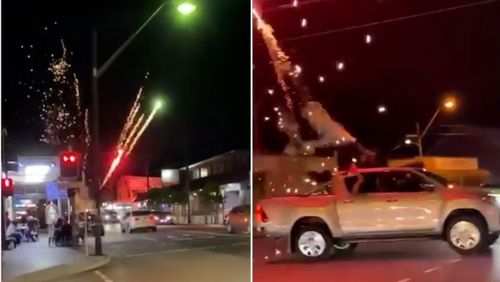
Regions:
[[[415,132],[416,122],[429,121],[450,92],[459,106],[438,117],[428,145],[439,138],[435,133],[446,132],[443,125],[499,128],[500,2],[323,36],[311,35],[474,1],[299,0],[297,7],[293,1],[258,2],[281,47],[302,67],[312,95],[364,146],[391,154],[405,134]],[[255,109],[256,124],[264,150],[279,152],[287,139],[276,129],[272,108],[284,105],[283,96],[255,28],[254,38],[254,99],[261,105]],[[340,72],[339,61],[344,63]],[[379,105],[387,113],[379,114]]]

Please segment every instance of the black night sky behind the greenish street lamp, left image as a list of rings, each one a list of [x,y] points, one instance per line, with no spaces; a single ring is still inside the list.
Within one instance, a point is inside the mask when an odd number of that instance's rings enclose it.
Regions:
[[[40,81],[47,77],[50,54],[61,52],[59,40],[63,39],[72,52],[69,61],[80,79],[85,105],[90,106],[92,27],[99,31],[102,65],[161,2],[2,3],[2,126],[9,132],[6,153],[11,158],[51,150],[38,142],[41,94],[36,91],[50,87],[49,82]],[[176,14],[176,1],[169,3],[99,81],[105,163],[142,85],[142,105],[147,112],[159,94],[163,93],[168,103],[168,109],[156,116],[139,141],[123,172],[143,173],[147,163],[153,172],[182,165],[186,134],[192,162],[250,146],[249,4],[199,1],[196,14],[187,19]],[[145,80],[147,72],[150,75]]]

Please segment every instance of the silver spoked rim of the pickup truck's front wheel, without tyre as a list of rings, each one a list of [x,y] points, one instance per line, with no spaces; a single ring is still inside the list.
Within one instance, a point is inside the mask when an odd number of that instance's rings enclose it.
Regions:
[[[450,230],[450,241],[453,246],[470,250],[476,247],[481,240],[479,228],[471,222],[459,221],[455,223]]]

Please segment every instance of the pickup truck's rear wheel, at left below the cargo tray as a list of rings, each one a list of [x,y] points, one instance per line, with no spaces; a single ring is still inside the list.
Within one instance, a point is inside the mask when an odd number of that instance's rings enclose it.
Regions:
[[[323,259],[331,254],[333,239],[321,227],[303,226],[295,238],[297,253],[307,259]]]

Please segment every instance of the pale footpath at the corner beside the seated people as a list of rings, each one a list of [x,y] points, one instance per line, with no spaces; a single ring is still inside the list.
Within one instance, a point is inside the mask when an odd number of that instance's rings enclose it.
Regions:
[[[38,242],[22,243],[15,249],[2,252],[2,281],[54,281],[109,262],[107,256],[87,257],[70,247],[49,247],[47,234],[40,234]]]

